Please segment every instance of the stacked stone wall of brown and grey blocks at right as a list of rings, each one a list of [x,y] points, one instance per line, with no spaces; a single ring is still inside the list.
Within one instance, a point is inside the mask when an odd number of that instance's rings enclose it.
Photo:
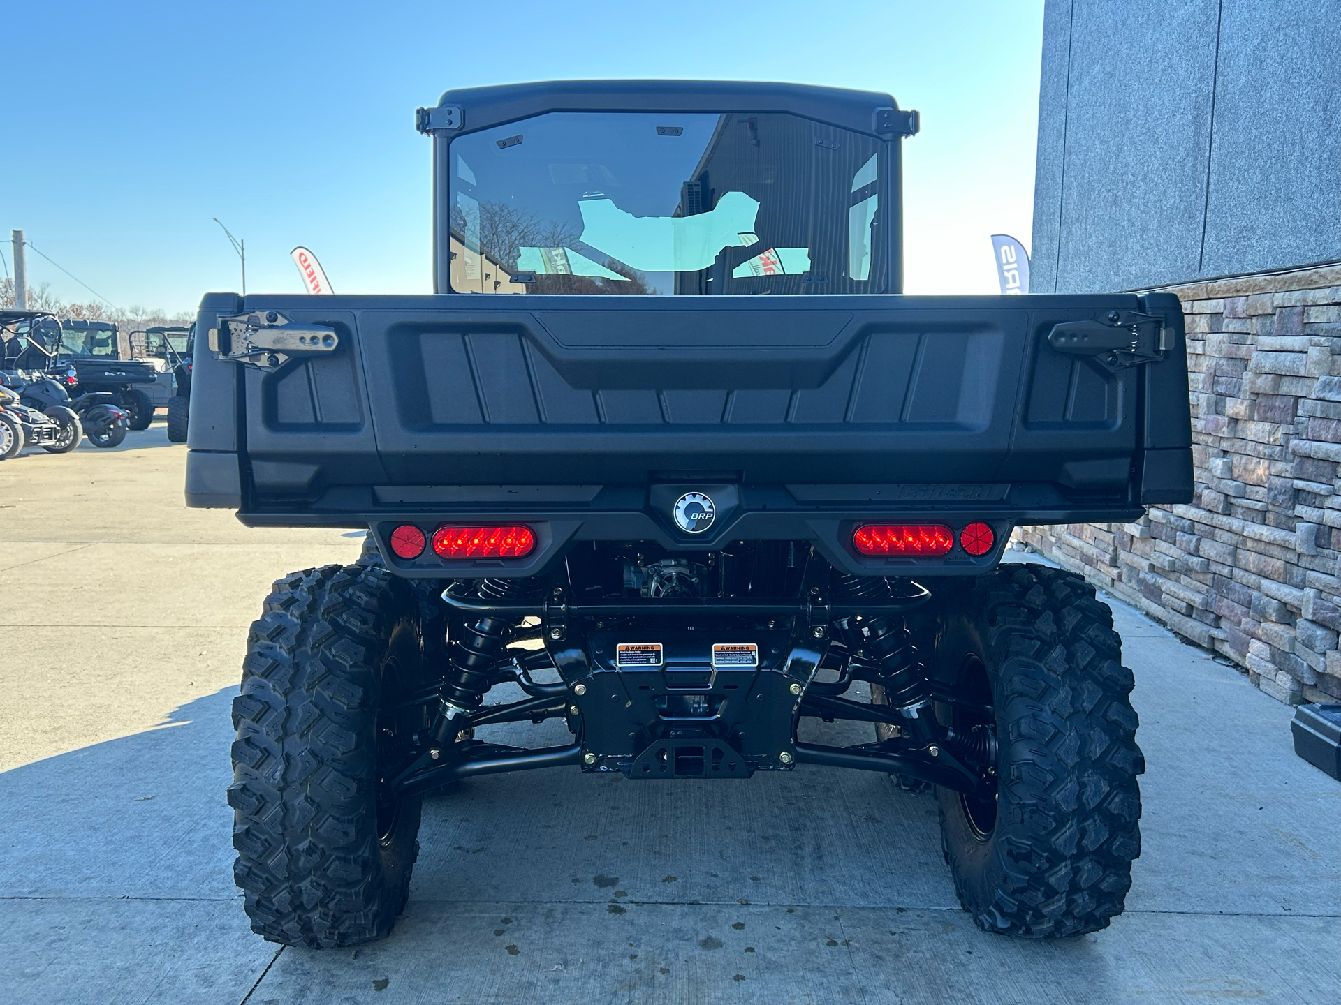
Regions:
[[[1341,265],[1179,287],[1196,494],[1016,539],[1247,671],[1341,699]]]

